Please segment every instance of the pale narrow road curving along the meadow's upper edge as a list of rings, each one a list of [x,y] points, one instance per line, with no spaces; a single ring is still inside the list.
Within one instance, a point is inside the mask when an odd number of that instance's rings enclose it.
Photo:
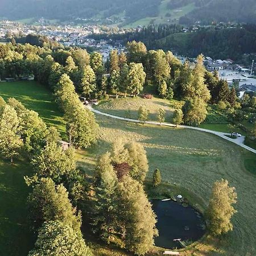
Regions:
[[[133,122],[133,123],[143,123],[142,121],[139,121],[139,120],[136,120],[136,119],[117,117],[116,115],[110,115],[110,114],[100,112],[96,109],[93,109],[92,106],[90,106],[90,105],[88,105],[87,108],[89,108],[90,110],[92,110],[92,112],[94,112],[96,114],[105,115],[105,117],[110,117],[110,118],[119,119],[119,120],[123,120],[123,121],[127,121],[127,122]],[[147,123],[148,125],[160,125],[159,122],[152,122],[152,121],[146,121],[145,123]],[[163,126],[169,126],[169,127],[176,127],[172,123],[162,123],[162,125]],[[243,147],[246,150],[249,150],[249,151],[253,152],[254,154],[256,154],[256,150],[254,150],[253,148],[248,147],[245,144],[243,144],[243,141],[245,141],[244,136],[238,137],[236,139],[232,139],[232,138],[229,138],[229,137],[225,136],[225,135],[230,135],[230,133],[220,133],[219,131],[211,131],[211,130],[207,130],[207,129],[203,129],[203,128],[199,128],[199,127],[186,126],[186,125],[178,125],[177,127],[185,128],[185,129],[198,130],[198,131],[204,131],[205,133],[215,134],[218,137],[226,139],[226,141],[233,142],[233,143],[237,144],[238,146]]]

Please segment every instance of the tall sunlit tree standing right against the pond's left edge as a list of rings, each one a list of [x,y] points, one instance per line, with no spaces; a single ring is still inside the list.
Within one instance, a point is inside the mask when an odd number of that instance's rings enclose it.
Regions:
[[[129,176],[117,185],[118,222],[127,250],[146,254],[154,246],[156,216],[143,186]]]

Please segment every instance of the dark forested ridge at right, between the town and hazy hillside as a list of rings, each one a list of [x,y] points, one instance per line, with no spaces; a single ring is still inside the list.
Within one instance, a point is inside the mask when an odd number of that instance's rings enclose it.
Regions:
[[[112,39],[126,44],[140,40],[148,49],[174,51],[179,55],[196,57],[200,53],[213,59],[241,60],[244,54],[256,52],[256,26],[200,28],[196,32],[181,32],[183,26],[150,25],[126,34],[93,35],[94,39]]]

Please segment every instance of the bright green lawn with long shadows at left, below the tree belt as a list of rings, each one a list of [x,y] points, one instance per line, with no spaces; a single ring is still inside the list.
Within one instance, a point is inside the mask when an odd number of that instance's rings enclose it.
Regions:
[[[4,100],[14,97],[27,109],[39,113],[48,126],[55,126],[64,136],[63,114],[55,104],[51,91],[36,81],[0,82],[0,96]]]

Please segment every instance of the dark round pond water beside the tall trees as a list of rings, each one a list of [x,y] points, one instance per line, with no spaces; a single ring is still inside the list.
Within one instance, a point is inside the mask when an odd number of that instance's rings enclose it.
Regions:
[[[151,203],[158,218],[156,228],[159,237],[155,238],[156,246],[166,249],[181,248],[183,246],[179,242],[174,242],[174,239],[181,238],[181,241],[194,242],[204,235],[203,218],[192,207],[183,207],[172,200],[152,200]]]

